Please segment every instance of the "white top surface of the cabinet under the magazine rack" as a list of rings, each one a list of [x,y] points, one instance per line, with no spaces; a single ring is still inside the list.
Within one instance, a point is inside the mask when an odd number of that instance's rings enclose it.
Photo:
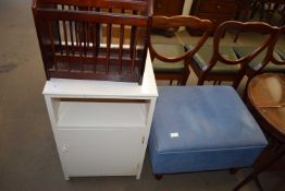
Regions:
[[[158,89],[148,53],[141,85],[132,82],[50,79],[46,82],[42,94],[54,97],[135,98],[157,97]]]

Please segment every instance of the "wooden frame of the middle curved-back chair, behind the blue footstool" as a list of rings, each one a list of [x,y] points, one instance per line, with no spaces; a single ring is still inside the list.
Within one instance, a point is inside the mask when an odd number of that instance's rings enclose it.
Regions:
[[[221,38],[223,38],[224,34],[228,29],[234,29],[238,33],[244,33],[244,32],[253,32],[253,33],[261,33],[261,34],[267,34],[269,35],[269,38],[260,46],[255,49],[248,56],[245,56],[243,58],[239,58],[237,60],[227,60],[224,58],[220,50],[220,41]],[[247,64],[257,56],[259,55],[262,50],[269,47],[271,43],[274,40],[275,36],[277,33],[277,28],[274,28],[270,26],[269,24],[265,23],[260,23],[260,22],[246,22],[241,23],[238,21],[227,21],[222,23],[215,31],[214,36],[213,36],[213,53],[212,57],[209,61],[208,68],[205,70],[201,70],[196,67],[196,64],[191,64],[195,73],[198,76],[198,85],[202,85],[205,81],[214,81],[221,83],[221,81],[231,81],[233,82],[233,87],[237,88],[243,76],[245,75],[246,67]],[[228,47],[231,48],[231,47]],[[239,64],[240,69],[236,74],[233,73],[211,73],[212,68],[215,65],[218,61],[221,61],[224,64],[228,65],[234,65],[234,64]]]

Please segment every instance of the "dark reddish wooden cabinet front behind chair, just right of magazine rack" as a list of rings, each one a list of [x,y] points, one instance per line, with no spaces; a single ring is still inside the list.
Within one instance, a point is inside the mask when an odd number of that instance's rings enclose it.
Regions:
[[[179,15],[182,14],[184,0],[154,0],[153,14],[154,15]]]

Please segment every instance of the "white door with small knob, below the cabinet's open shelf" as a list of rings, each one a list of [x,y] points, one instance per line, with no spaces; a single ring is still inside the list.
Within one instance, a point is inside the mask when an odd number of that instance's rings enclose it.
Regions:
[[[131,176],[138,171],[142,128],[58,130],[67,176]]]

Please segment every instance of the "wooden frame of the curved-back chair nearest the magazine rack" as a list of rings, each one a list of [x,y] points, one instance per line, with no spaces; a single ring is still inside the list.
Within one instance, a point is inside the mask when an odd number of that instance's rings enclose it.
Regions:
[[[190,73],[188,61],[190,58],[200,49],[200,47],[205,44],[205,41],[208,39],[208,36],[210,35],[210,32],[212,29],[212,23],[209,20],[200,20],[196,16],[187,16],[187,15],[177,15],[177,16],[153,16],[152,17],[152,27],[156,28],[173,28],[173,27],[179,27],[179,26],[186,26],[194,29],[202,31],[203,34],[196,44],[196,46],[191,49],[185,52],[184,55],[169,58],[166,56],[163,56],[159,53],[152,46],[151,39],[149,45],[150,56],[151,60],[153,61],[154,58],[163,61],[169,62],[169,64],[172,64],[173,62],[184,61],[184,71],[182,73],[177,72],[156,72],[154,75],[157,80],[177,80],[179,85],[185,85],[188,79],[188,75]],[[165,45],[168,46],[168,45]]]

